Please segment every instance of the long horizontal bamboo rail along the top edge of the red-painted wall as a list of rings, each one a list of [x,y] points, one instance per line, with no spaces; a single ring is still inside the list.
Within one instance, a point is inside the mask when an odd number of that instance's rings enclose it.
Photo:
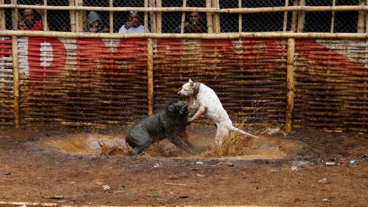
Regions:
[[[29,37],[61,37],[61,38],[152,38],[152,39],[241,39],[241,38],[270,38],[270,39],[367,39],[368,33],[318,33],[318,32],[242,32],[219,34],[158,34],[158,33],[92,33],[92,32],[58,32],[58,31],[26,31],[0,30],[0,36],[29,36]]]

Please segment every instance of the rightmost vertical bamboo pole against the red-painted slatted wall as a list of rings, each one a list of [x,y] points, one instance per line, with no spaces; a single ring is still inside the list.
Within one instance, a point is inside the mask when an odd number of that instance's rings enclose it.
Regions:
[[[287,66],[286,66],[286,84],[287,84],[287,106],[286,106],[286,122],[285,122],[285,132],[289,133],[291,130],[292,122],[292,111],[294,110],[294,52],[295,52],[295,39],[288,39],[288,52],[287,52]]]

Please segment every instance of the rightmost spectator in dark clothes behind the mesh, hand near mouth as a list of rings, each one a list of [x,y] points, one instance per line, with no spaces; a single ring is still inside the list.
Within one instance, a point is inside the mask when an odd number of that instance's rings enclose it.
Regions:
[[[207,33],[206,27],[202,26],[202,15],[198,12],[190,12],[189,22],[184,22],[184,33]],[[182,26],[174,28],[171,33],[180,33]]]

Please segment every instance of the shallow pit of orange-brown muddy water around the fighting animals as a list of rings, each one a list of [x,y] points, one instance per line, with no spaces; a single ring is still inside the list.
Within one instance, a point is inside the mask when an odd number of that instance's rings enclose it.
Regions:
[[[239,133],[232,133],[221,149],[216,149],[212,131],[198,132],[189,129],[191,142],[200,153],[184,153],[167,139],[151,145],[141,156],[168,158],[215,158],[215,159],[280,159],[296,153],[301,143],[283,138],[249,138]],[[275,130],[276,131],[276,130]],[[267,133],[263,130],[262,134]],[[281,132],[277,132],[281,133]],[[271,134],[271,133],[268,133]],[[32,144],[71,155],[114,155],[126,156],[128,149],[125,136],[111,136],[97,133],[79,133],[66,136],[50,137]]]

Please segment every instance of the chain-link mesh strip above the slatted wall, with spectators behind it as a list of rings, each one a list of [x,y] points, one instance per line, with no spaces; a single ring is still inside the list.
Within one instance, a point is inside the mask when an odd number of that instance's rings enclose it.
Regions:
[[[45,5],[44,0],[2,0],[3,4]],[[80,7],[162,7],[179,8],[171,11],[127,12],[3,8],[5,16],[1,30],[50,30],[85,32],[155,32],[155,33],[204,33],[228,32],[347,32],[358,31],[358,11],[289,11],[289,12],[225,12],[224,9],[266,8],[285,6],[357,6],[362,0],[47,0],[47,6]],[[146,4],[146,5],[145,5]],[[219,8],[222,12],[183,12],[180,8]],[[97,9],[101,10],[101,9]],[[138,9],[139,10],[139,9]],[[47,12],[44,12],[47,11]],[[364,13],[364,12],[363,12]],[[45,18],[46,15],[46,18]],[[184,17],[183,17],[184,15]],[[363,18],[364,14],[363,14]],[[94,21],[92,21],[94,20]],[[184,22],[182,22],[184,20]],[[218,21],[216,21],[218,20]],[[44,28],[43,22],[47,22]],[[98,21],[98,24],[94,24]],[[365,22],[365,19],[361,22]],[[41,25],[37,26],[40,23]],[[240,23],[240,24],[239,24]],[[302,23],[302,24],[301,24]],[[143,27],[146,25],[146,29]],[[183,27],[183,28],[182,28]],[[94,29],[91,29],[94,28]]]

